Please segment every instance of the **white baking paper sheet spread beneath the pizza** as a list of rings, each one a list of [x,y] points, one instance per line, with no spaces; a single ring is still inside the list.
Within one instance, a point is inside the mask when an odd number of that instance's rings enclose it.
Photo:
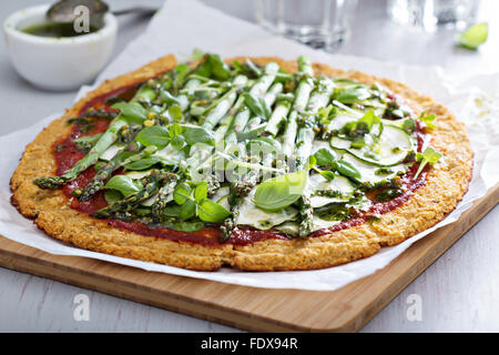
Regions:
[[[467,125],[475,151],[473,179],[469,191],[457,209],[434,227],[391,247],[384,247],[374,256],[346,265],[318,271],[301,272],[241,272],[224,267],[217,272],[195,272],[154,263],[140,262],[81,250],[55,241],[10,204],[9,180],[24,146],[54,118],[53,114],[37,125],[0,138],[0,234],[48,253],[99,258],[118,264],[197,277],[224,283],[267,288],[301,288],[333,291],[367,276],[386,266],[414,242],[438,227],[457,221],[472,202],[499,181],[499,73],[483,77],[449,77],[440,68],[407,67],[366,58],[332,55],[272,36],[261,28],[228,17],[194,0],[170,0],[151,20],[140,38],[131,42],[98,78],[95,84],[143,65],[166,53],[186,58],[194,48],[233,55],[278,55],[295,59],[308,55],[313,61],[342,69],[358,69],[371,74],[405,82],[421,93],[431,95],[451,109]],[[78,98],[90,88],[82,88]]]

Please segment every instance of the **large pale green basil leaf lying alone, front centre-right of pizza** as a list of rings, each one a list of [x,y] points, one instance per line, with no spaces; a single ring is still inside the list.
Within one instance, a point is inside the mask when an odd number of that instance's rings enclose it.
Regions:
[[[295,203],[303,194],[308,170],[268,179],[255,191],[253,203],[268,211],[278,211]]]

